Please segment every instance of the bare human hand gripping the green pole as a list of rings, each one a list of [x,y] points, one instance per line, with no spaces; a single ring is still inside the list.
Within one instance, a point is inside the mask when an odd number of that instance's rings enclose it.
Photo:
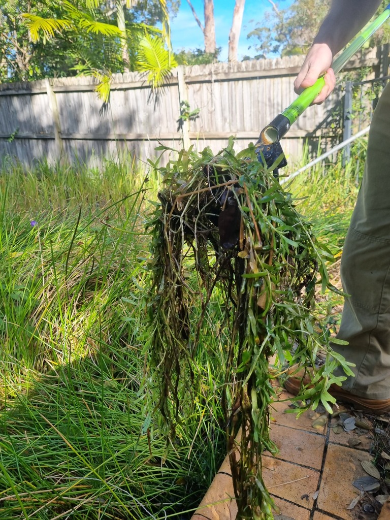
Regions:
[[[314,85],[318,78],[324,74],[325,85],[313,101],[313,105],[322,103],[336,84],[336,78],[331,68],[332,59],[332,51],[326,43],[315,43],[307,53],[302,68],[296,76],[294,90],[297,94],[301,94],[305,88]]]

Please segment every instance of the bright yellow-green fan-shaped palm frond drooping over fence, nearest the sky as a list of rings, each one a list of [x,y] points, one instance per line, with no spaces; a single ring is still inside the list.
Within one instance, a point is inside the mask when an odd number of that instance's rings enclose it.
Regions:
[[[148,81],[153,88],[157,88],[177,63],[161,38],[145,34],[139,42],[136,66],[139,71],[149,72]]]

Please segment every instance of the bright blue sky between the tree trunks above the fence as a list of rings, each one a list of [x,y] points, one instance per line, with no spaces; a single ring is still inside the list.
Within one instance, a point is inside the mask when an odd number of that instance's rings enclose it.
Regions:
[[[280,9],[284,9],[292,4],[293,0],[281,0],[277,2]],[[201,22],[203,23],[203,2],[202,0],[191,0],[194,9]],[[214,0],[214,17],[217,47],[222,47],[219,59],[227,61],[228,39],[233,17],[235,0]],[[266,10],[271,9],[271,4],[267,0],[245,0],[244,17],[239,42],[238,59],[243,56],[254,56],[253,49],[248,50],[250,45],[246,35],[255,27],[257,21],[261,21]],[[253,21],[251,23],[251,21]],[[181,0],[181,5],[176,18],[171,20],[171,38],[173,50],[182,48],[196,49],[204,48],[203,34],[195,21],[187,0]]]

